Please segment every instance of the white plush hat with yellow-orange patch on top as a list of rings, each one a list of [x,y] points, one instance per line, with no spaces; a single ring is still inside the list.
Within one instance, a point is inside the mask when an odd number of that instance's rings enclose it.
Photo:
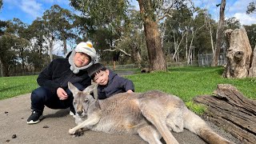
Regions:
[[[76,52],[84,53],[90,56],[90,63],[83,67],[77,67],[74,65],[74,54]],[[80,42],[78,46],[75,47],[75,49],[70,54],[69,58],[70,62],[70,70],[73,71],[74,74],[78,74],[79,70],[84,70],[91,66],[92,64],[98,62],[98,56],[96,54],[96,50],[94,49],[94,46],[91,42]]]

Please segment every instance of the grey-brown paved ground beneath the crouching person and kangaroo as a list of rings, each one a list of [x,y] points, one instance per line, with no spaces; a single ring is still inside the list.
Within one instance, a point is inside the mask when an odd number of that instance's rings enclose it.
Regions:
[[[27,125],[30,115],[30,94],[20,95],[0,101],[0,143],[92,143],[92,144],[145,144],[138,135],[104,134],[86,131],[84,135],[74,138],[68,130],[75,126],[69,110],[44,111],[44,119],[36,125]],[[43,128],[48,126],[48,128]],[[210,125],[213,126],[213,125]],[[214,130],[222,136],[236,141],[230,134],[224,133],[216,126]],[[17,138],[12,138],[16,134]],[[173,133],[180,143],[205,144],[201,138],[188,130],[180,134]]]

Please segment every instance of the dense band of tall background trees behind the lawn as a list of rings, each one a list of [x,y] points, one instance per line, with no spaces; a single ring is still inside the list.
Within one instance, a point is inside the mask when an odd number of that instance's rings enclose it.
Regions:
[[[114,2],[70,1],[70,5],[82,14],[74,14],[54,5],[30,25],[18,18],[1,21],[0,75],[39,72],[53,58],[64,56],[78,42],[87,40],[94,42],[103,64],[112,65],[113,60],[117,64],[148,64],[141,14],[130,6],[130,1]],[[173,6],[167,10],[164,9],[166,4]],[[90,11],[86,11],[84,6],[90,6]],[[197,54],[213,52],[218,22],[207,10],[186,6],[182,1],[169,0],[157,1],[152,6],[157,10],[154,18],[162,18],[156,22],[167,62],[190,63],[197,60]],[[254,13],[254,2],[248,10]],[[237,19],[226,19],[225,29],[239,26],[241,24]],[[256,25],[245,28],[254,49]],[[58,45],[61,46],[60,51],[54,51]],[[222,52],[225,50],[224,45]]]

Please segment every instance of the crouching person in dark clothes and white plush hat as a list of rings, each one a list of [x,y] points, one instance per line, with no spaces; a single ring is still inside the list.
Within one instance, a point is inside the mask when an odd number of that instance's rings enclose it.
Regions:
[[[67,88],[67,82],[72,82],[79,90],[91,85],[91,79],[85,70],[97,62],[97,54],[91,42],[81,42],[66,55],[57,58],[38,75],[38,89],[31,94],[32,114],[27,119],[28,124],[35,124],[42,119],[44,106],[51,109],[66,109],[75,114],[73,95]],[[70,113],[72,114],[72,113]]]

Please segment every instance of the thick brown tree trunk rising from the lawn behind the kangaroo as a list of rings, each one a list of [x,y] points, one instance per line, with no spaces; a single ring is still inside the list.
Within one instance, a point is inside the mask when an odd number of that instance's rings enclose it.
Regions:
[[[150,70],[166,71],[166,59],[162,51],[158,23],[154,21],[154,10],[151,1],[138,0],[146,34],[146,47],[150,59]]]

